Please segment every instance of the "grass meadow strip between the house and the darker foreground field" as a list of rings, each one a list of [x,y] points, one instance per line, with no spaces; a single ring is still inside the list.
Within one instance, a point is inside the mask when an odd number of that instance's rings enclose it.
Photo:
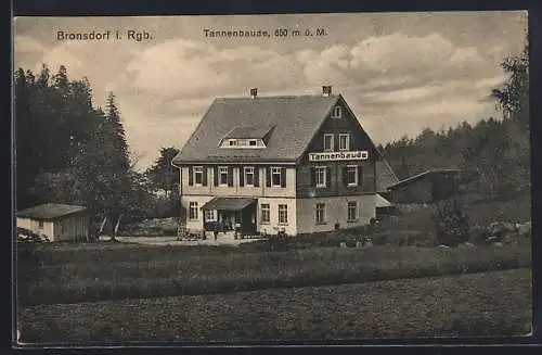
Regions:
[[[77,250],[76,250],[77,251]],[[144,248],[73,252],[59,264],[21,267],[21,304],[75,303],[137,297],[325,286],[512,269],[531,265],[530,245],[506,248],[312,248],[286,252],[181,253]],[[208,252],[207,252],[208,251]],[[93,253],[94,253],[93,252]],[[109,255],[109,253],[112,255]],[[51,259],[48,259],[52,257]],[[60,255],[61,259],[64,256]]]

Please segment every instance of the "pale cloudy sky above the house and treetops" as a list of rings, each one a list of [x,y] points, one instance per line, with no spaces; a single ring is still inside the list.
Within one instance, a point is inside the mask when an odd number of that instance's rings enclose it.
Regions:
[[[301,36],[275,37],[279,28]],[[206,37],[205,29],[270,36]],[[107,30],[108,40],[59,38]],[[149,36],[138,41],[129,30]],[[320,94],[331,85],[377,143],[500,117],[489,94],[526,31],[519,11],[17,17],[13,55],[15,68],[64,65],[70,79],[87,77],[96,106],[113,91],[144,169],[162,147],[182,148],[215,98],[246,97],[253,87],[259,96]]]

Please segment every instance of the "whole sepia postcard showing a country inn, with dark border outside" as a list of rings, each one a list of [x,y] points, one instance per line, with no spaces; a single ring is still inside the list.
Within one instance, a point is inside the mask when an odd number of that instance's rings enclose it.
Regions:
[[[527,337],[527,12],[16,17],[16,346]]]

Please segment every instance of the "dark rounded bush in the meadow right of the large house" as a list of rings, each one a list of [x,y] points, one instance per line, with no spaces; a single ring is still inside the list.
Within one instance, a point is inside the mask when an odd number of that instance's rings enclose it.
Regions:
[[[468,241],[468,218],[464,212],[461,196],[454,196],[437,203],[433,215],[435,237],[447,246],[457,246]]]

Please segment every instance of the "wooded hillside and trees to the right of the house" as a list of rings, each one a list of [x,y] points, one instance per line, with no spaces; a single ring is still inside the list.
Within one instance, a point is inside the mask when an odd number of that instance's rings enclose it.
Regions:
[[[402,137],[378,149],[399,179],[431,168],[460,168],[463,189],[480,199],[513,199],[530,191],[528,46],[501,64],[507,79],[488,92],[502,117]]]

